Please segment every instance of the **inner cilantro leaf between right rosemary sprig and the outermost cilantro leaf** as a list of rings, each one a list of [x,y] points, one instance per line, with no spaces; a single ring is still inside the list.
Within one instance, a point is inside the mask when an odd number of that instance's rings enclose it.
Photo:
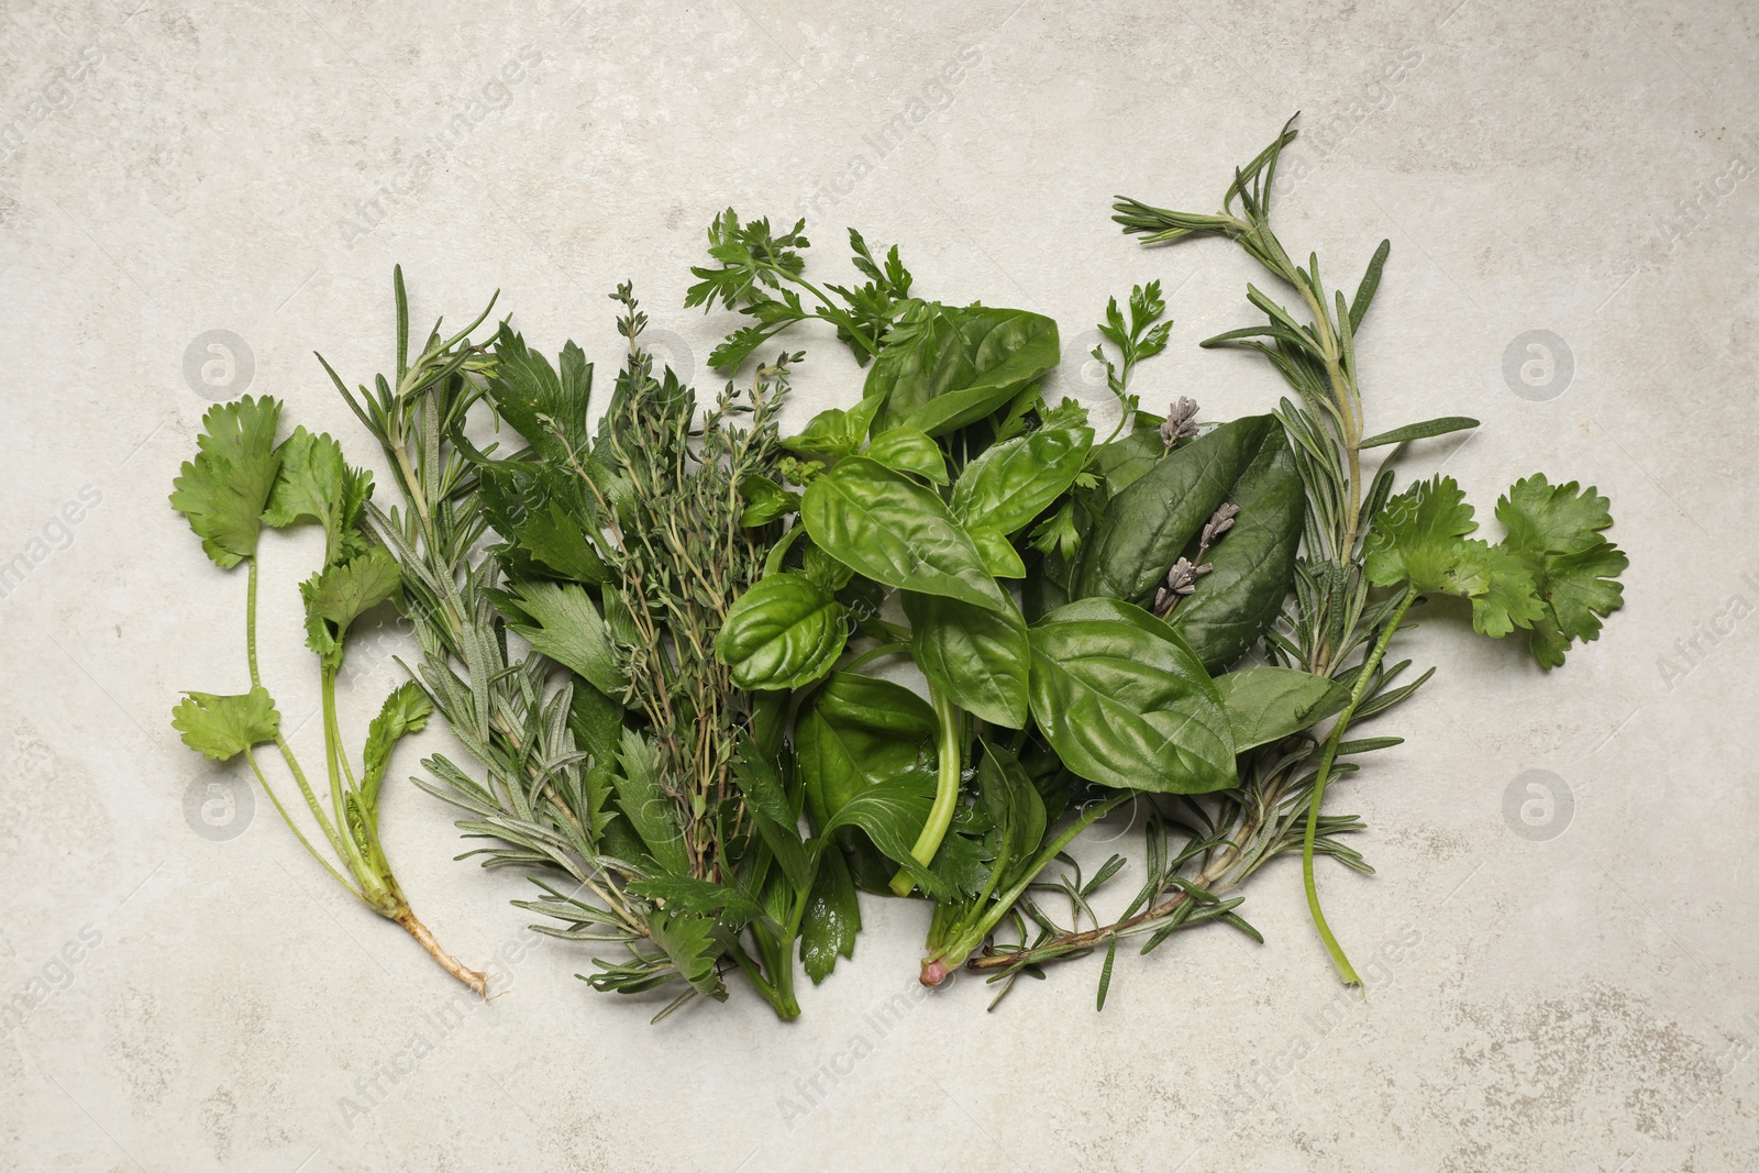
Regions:
[[[1409,584],[1421,594],[1472,601],[1472,626],[1492,638],[1544,617],[1530,570],[1502,547],[1465,535],[1478,529],[1453,477],[1423,480],[1386,503],[1363,543],[1374,586]]]

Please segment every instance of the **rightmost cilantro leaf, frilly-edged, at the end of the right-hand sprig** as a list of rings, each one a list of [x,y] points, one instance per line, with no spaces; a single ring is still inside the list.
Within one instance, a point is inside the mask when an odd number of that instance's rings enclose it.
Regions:
[[[1624,607],[1617,579],[1631,559],[1601,536],[1613,524],[1608,505],[1592,485],[1551,485],[1544,475],[1514,482],[1497,501],[1502,549],[1532,575],[1541,601],[1529,640],[1541,667],[1562,667],[1573,640],[1599,638],[1601,621]]]

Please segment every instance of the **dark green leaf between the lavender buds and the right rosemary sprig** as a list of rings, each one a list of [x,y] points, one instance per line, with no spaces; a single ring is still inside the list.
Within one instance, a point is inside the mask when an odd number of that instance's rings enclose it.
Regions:
[[[1265,438],[1228,499],[1240,506],[1233,529],[1203,556],[1210,573],[1171,616],[1173,630],[1210,672],[1238,659],[1265,633],[1295,582],[1307,491],[1281,427]]]

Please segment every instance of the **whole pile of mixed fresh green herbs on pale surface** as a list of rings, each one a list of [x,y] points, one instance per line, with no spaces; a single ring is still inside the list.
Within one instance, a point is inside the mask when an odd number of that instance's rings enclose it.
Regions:
[[[1625,556],[1602,536],[1608,501],[1576,482],[1516,482],[1497,543],[1471,536],[1451,478],[1395,492],[1404,445],[1476,422],[1365,434],[1354,339],[1388,244],[1353,297],[1326,290],[1317,257],[1289,259],[1270,190],[1293,139],[1284,127],[1238,169],[1215,215],[1115,204],[1149,244],[1226,236],[1293,295],[1291,311],[1247,285],[1265,322],[1203,343],[1263,353],[1293,397],[1214,426],[1191,399],[1161,417],[1129,390],[1168,345],[1157,281],[1106,306],[1094,357],[1120,413],[1099,440],[1084,404],[1040,394],[1055,322],[929,301],[897,248],[878,260],[855,230],[862,280],[830,285],[806,276],[804,223],[716,218],[686,304],[751,324],[711,355],[728,376],[712,403],[654,369],[621,287],[626,353],[596,426],[573,343],[551,362],[505,322],[471,341],[484,311],[412,357],[399,273],[394,373],[355,392],[331,376],[401,503],[373,503],[327,436],[276,447],[271,401],[209,415],[172,503],[215,561],[250,563],[252,691],[192,693],[178,726],[220,758],[276,740],[352,883],[336,878],[478,988],[408,913],[378,844],[390,744],[431,710],[470,763],[434,754],[419,784],[466,812],[484,842],[468,855],[531,876],[540,895],[519,904],[542,932],[610,953],[595,988],[668,988],[661,1016],[725,999],[734,971],[795,1016],[795,960],[820,981],[853,955],[858,890],[932,902],[927,985],[967,967],[999,999],[1103,950],[1103,1006],[1124,937],[1149,951],[1205,922],[1258,937],[1233,890],[1293,853],[1354,983],[1314,860],[1369,871],[1342,842],[1361,823],[1323,800],[1400,744],[1358,726],[1434,672],[1388,658],[1412,607],[1467,600],[1479,633],[1522,631],[1553,668],[1620,605]],[[806,355],[758,355],[814,322],[865,368],[864,394],[783,436]],[[257,533],[299,519],[329,536],[304,596],[331,814],[255,668]],[[334,675],[348,624],[385,601],[420,659],[357,779]],[[899,665],[925,696],[876,675]],[[1101,916],[1129,860],[1084,876],[1071,846],[1124,804],[1149,812],[1142,862]]]

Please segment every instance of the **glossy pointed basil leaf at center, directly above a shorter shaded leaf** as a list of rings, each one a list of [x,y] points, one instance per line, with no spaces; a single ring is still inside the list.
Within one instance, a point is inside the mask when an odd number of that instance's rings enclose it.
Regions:
[[[814,478],[800,519],[821,550],[876,582],[992,610],[1013,605],[941,498],[864,455]]]

